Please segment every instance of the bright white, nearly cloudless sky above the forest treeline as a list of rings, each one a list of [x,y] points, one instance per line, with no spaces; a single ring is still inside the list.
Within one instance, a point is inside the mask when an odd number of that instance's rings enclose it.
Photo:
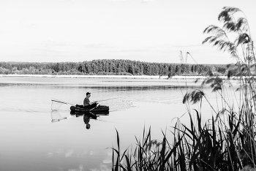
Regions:
[[[131,59],[198,64],[234,62],[202,45],[222,7],[238,7],[254,38],[255,0],[0,0],[0,61]],[[192,58],[188,63],[194,64]]]

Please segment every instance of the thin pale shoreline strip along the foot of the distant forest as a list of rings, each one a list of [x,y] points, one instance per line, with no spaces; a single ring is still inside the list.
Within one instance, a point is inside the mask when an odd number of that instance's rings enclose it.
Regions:
[[[69,77],[69,78],[121,78],[121,79],[167,79],[167,76],[149,76],[149,75],[0,75],[0,77]],[[173,76],[169,80],[187,80],[204,79],[205,76]],[[222,76],[222,79],[227,77]]]

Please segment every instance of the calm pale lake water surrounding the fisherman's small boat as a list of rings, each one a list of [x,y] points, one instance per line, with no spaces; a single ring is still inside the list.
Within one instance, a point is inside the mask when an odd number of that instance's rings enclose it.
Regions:
[[[152,140],[161,141],[162,131],[171,139],[171,126],[187,112],[185,86],[184,80],[0,77],[0,170],[111,170],[109,148],[117,147],[116,130],[121,151],[135,146],[144,126],[151,127]],[[88,91],[91,102],[102,100],[110,107],[108,115],[89,119],[90,129],[83,115],[69,110]],[[214,102],[216,94],[204,91]],[[70,104],[52,104],[51,99]],[[52,105],[59,110],[52,111]],[[205,120],[211,118],[206,101],[202,113]],[[189,123],[187,118],[181,121]]]

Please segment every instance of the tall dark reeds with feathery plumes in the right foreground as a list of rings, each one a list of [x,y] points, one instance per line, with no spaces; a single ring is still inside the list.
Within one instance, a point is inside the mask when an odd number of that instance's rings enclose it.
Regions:
[[[224,7],[219,14],[223,28],[208,26],[203,32],[212,34],[203,43],[210,43],[219,50],[228,51],[236,58],[233,68],[227,67],[227,79],[207,77],[202,89],[187,91],[183,103],[187,106],[190,125],[177,121],[173,127],[172,142],[163,133],[162,142],[151,140],[151,130],[143,130],[143,140],[136,138],[134,149],[120,152],[113,150],[112,170],[256,170],[255,143],[255,52],[249,25],[244,13],[234,7]],[[237,34],[233,41],[228,35]],[[239,88],[233,90],[229,80],[239,78]],[[214,107],[203,92],[210,86],[222,107]],[[227,91],[233,90],[230,99]],[[238,96],[236,96],[238,94]],[[214,115],[203,123],[200,108],[190,109],[189,104],[209,104]],[[192,116],[196,115],[196,121]]]

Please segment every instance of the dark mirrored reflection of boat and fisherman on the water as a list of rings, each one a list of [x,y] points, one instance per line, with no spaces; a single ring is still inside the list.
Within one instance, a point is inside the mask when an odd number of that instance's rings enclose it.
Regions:
[[[70,115],[75,115],[76,117],[83,116],[83,122],[86,124],[86,129],[91,128],[91,124],[89,123],[91,119],[97,120],[100,115],[109,115],[108,111],[101,111],[101,112],[78,112],[78,111],[71,111]]]

